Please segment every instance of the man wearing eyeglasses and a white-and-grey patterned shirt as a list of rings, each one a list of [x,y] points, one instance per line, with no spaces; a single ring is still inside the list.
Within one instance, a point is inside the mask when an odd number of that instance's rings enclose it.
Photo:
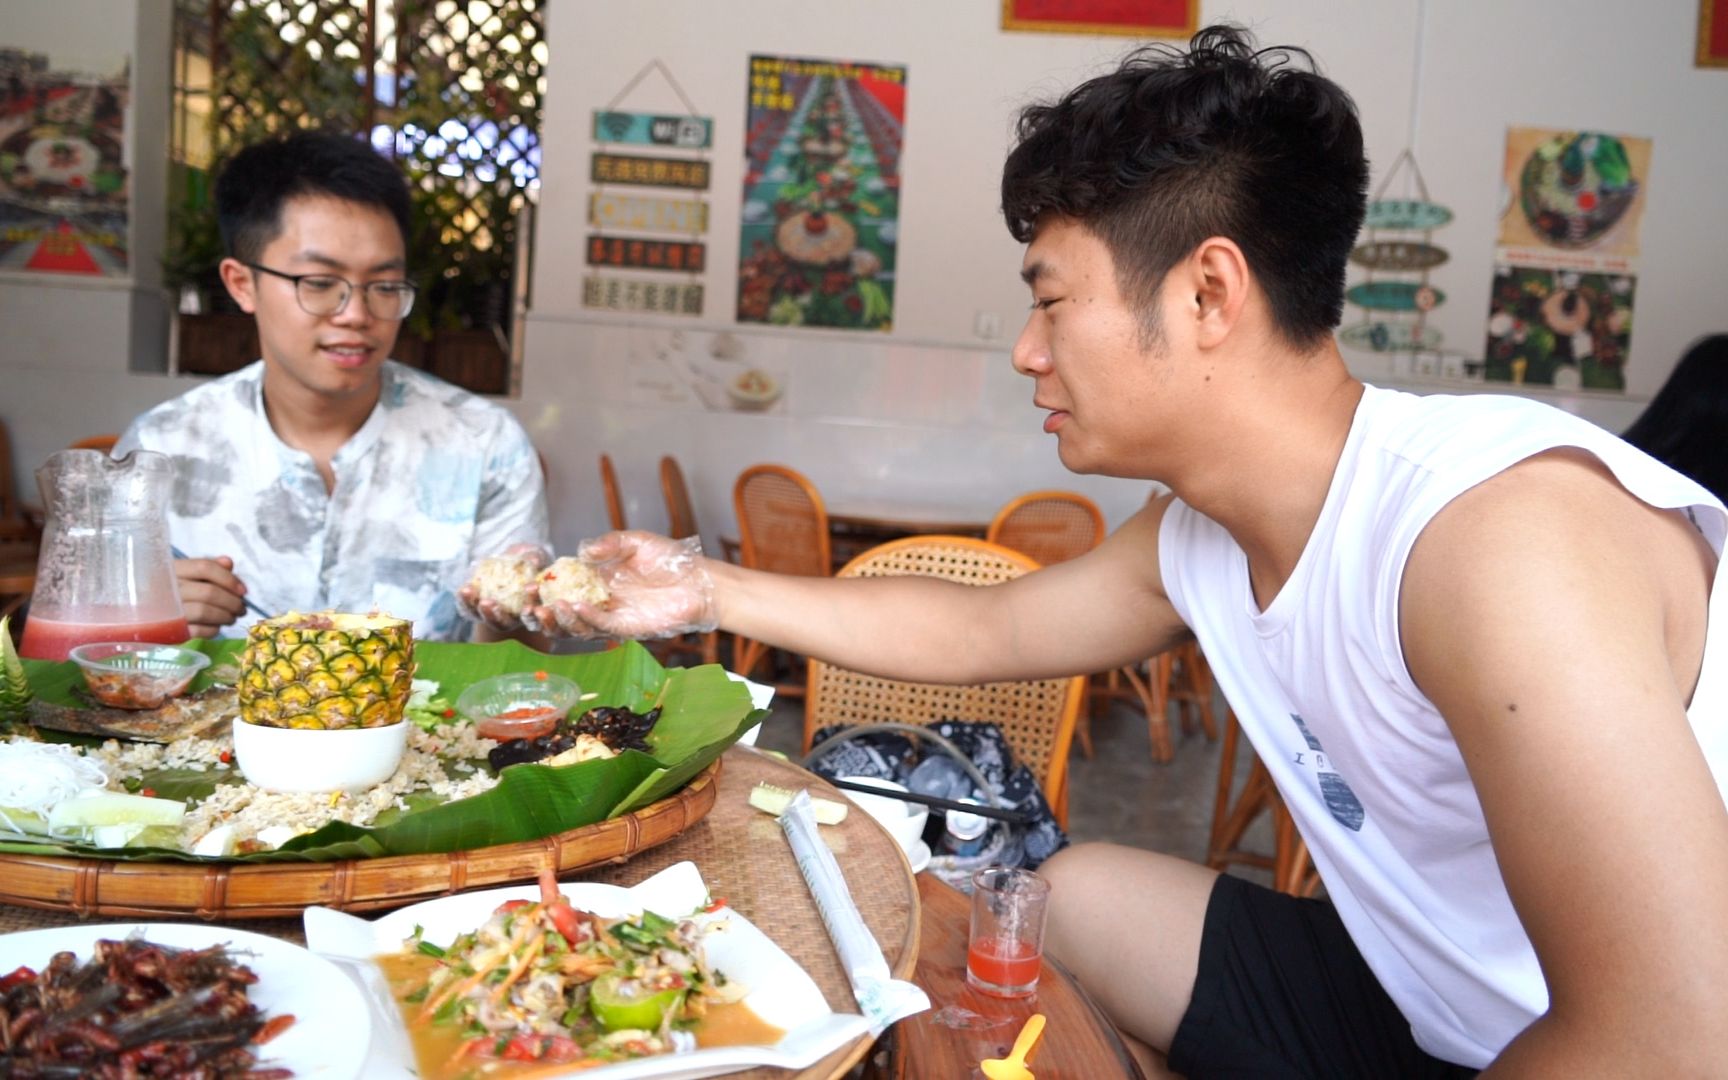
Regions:
[[[221,280],[263,358],[138,420],[175,460],[169,532],[195,634],[290,610],[380,610],[460,639],[473,558],[548,541],[539,460],[501,406],[403,366],[408,185],[365,142],[295,133],[216,181]],[[494,636],[489,627],[480,636]]]

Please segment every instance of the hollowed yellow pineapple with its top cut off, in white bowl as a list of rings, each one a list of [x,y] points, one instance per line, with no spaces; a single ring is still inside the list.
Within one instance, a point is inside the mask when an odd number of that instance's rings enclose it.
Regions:
[[[240,650],[240,719],[264,727],[387,727],[415,674],[413,627],[389,615],[289,612]]]

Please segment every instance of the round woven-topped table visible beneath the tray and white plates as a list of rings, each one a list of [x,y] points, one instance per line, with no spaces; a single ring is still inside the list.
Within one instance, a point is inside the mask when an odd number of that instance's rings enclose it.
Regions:
[[[809,786],[812,793],[828,798],[840,798],[840,793],[816,774],[750,746],[733,746],[722,762],[719,795],[707,817],[627,862],[577,871],[567,878],[629,886],[689,859],[702,869],[715,897],[724,897],[810,973],[829,1007],[855,1013],[852,985],[779,823],[746,804],[750,790],[764,781],[783,788]],[[847,876],[864,923],[881,943],[893,976],[911,978],[918,961],[919,900],[905,855],[869,814],[848,814],[838,826],[823,826],[823,836]],[[0,931],[74,923],[78,918],[69,912],[0,905]],[[228,924],[295,943],[306,942],[299,919],[244,919]],[[867,1035],[861,1037],[800,1073],[760,1068],[729,1075],[752,1080],[835,1080],[864,1058],[871,1042]]]

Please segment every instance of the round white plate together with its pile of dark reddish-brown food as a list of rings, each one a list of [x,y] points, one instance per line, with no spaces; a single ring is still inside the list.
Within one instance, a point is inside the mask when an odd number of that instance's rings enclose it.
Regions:
[[[370,1021],[342,971],[271,937],[185,923],[0,935],[5,1077],[361,1077]]]

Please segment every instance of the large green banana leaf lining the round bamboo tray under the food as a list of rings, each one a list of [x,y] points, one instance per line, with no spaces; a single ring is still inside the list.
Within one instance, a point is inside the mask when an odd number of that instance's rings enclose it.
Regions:
[[[192,691],[214,684],[238,653],[240,641],[199,641],[195,648],[214,664],[192,684]],[[719,665],[664,669],[636,643],[603,653],[546,655],[515,641],[494,645],[415,645],[415,672],[439,684],[439,696],[454,700],[465,686],[480,679],[517,672],[546,670],[574,679],[586,702],[627,705],[638,712],[660,707],[660,722],[648,734],[650,753],[627,750],[607,760],[575,766],[511,766],[498,786],[470,798],[439,802],[432,795],[416,797],[408,810],[380,817],[370,828],[330,823],[314,833],[295,836],[273,852],[232,855],[233,862],[323,862],[334,859],[370,859],[378,855],[423,855],[456,852],[496,843],[539,840],[553,833],[629,814],[676,793],[745,731],[767,714],[750,705],[750,693]],[[26,660],[31,689],[45,702],[83,705],[74,689],[83,676],[74,664]],[[93,743],[78,736],[41,733],[45,738]],[[218,783],[238,783],[238,776],[216,779],[192,769],[162,769],[143,778],[161,798],[197,800]],[[0,842],[0,852],[98,855],[109,859],[173,859],[206,862],[168,848],[93,848],[57,842]]]

